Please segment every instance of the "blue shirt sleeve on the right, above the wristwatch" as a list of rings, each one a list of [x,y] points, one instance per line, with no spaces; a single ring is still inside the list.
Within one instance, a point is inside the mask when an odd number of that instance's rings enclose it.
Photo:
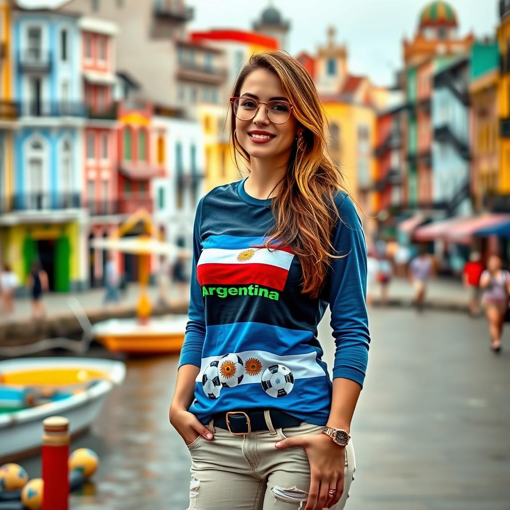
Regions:
[[[370,334],[366,305],[367,246],[362,223],[352,200],[344,196],[333,245],[336,255],[330,267],[329,308],[335,339],[333,378],[345,377],[363,388]]]

